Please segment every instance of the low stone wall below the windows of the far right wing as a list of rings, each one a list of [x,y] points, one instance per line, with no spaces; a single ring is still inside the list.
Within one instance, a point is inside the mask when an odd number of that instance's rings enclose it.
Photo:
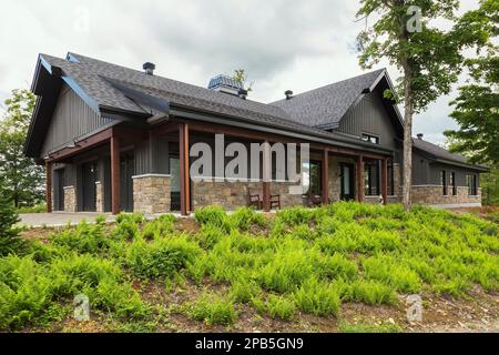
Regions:
[[[413,203],[434,204],[434,205],[458,205],[466,203],[481,204],[481,189],[477,196],[468,195],[467,186],[458,186],[457,195],[452,195],[452,186],[448,186],[449,195],[444,195],[444,187],[439,185],[413,186]]]

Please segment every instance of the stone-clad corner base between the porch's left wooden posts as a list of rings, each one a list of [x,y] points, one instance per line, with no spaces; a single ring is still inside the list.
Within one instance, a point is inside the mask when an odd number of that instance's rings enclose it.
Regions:
[[[171,176],[146,174],[133,176],[133,211],[167,213],[171,209]]]

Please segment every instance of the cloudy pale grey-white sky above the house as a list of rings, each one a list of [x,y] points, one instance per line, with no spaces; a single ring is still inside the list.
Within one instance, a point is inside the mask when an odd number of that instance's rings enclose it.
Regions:
[[[461,9],[476,3],[462,0]],[[12,89],[30,88],[38,53],[69,51],[140,70],[150,61],[155,74],[201,87],[244,68],[251,99],[276,101],[288,89],[299,93],[363,73],[353,49],[366,26],[356,21],[358,7],[355,0],[2,0],[0,102]],[[400,75],[383,67],[394,81]],[[448,116],[456,88],[415,118],[415,134],[445,142],[442,132],[456,128]]]

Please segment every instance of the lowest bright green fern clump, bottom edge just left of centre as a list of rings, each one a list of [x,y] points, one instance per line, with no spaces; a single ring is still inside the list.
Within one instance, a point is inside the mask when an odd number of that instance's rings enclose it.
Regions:
[[[187,315],[207,325],[232,325],[237,317],[231,301],[213,294],[204,294],[190,305]]]

